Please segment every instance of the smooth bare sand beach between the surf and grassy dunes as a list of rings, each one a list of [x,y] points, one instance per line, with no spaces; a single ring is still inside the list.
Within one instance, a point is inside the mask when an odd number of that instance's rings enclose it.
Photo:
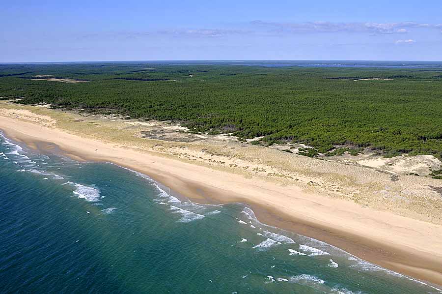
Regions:
[[[32,149],[41,151],[50,146],[49,152],[75,160],[110,162],[141,172],[202,204],[245,203],[262,223],[313,237],[370,263],[442,285],[440,225],[314,195],[295,185],[247,178],[31,122],[0,116],[0,129]]]

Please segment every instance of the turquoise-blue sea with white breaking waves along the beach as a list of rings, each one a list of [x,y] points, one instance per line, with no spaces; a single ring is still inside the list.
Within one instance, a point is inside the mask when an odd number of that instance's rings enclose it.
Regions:
[[[442,293],[105,163],[0,136],[0,293]],[[179,192],[179,191],[177,191]]]

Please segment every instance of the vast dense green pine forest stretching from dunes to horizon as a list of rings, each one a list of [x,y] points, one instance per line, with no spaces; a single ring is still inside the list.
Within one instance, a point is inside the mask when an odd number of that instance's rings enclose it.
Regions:
[[[309,156],[371,148],[442,158],[442,62],[1,64],[0,77],[1,95],[24,104],[173,120],[264,146],[303,143]]]

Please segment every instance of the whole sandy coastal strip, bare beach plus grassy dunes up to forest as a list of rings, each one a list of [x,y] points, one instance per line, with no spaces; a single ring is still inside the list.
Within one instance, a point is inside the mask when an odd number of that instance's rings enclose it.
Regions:
[[[150,127],[0,103],[0,130],[30,148],[111,162],[151,176],[195,202],[245,203],[263,223],[442,285],[441,180],[391,176],[222,136],[146,138]]]

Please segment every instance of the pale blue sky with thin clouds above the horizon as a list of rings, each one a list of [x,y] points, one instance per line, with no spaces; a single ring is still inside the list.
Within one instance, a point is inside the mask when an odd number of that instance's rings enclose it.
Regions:
[[[442,60],[442,1],[4,1],[0,62]]]

